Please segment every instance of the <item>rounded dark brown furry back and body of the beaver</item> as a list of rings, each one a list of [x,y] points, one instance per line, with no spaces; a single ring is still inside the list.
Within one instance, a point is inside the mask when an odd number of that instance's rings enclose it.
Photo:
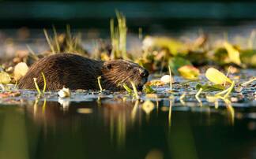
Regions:
[[[36,89],[36,78],[40,89],[43,88],[43,72],[46,77],[47,90],[62,87],[98,90],[97,77],[102,74],[103,62],[94,61],[76,54],[55,54],[36,61],[19,81],[21,89]]]

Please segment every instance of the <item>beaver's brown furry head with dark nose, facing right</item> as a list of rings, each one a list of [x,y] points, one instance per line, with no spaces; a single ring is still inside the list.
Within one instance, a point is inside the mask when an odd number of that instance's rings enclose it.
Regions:
[[[102,73],[104,87],[108,90],[122,90],[124,83],[132,87],[130,81],[133,81],[137,89],[141,91],[149,76],[149,72],[145,68],[124,60],[104,62]]]

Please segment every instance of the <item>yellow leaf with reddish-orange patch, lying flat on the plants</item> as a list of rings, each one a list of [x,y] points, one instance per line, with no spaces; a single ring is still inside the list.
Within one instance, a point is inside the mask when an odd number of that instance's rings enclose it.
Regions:
[[[184,65],[178,71],[181,76],[188,80],[197,80],[200,75],[199,69],[192,65]]]

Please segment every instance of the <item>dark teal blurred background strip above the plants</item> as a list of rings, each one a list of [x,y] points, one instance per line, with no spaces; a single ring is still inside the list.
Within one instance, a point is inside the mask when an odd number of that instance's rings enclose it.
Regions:
[[[130,28],[234,26],[256,20],[256,2],[224,1],[0,1],[0,28],[109,28],[118,9]]]

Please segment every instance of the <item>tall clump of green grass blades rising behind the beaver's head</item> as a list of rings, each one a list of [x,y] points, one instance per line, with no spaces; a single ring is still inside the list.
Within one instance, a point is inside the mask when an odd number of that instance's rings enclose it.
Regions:
[[[111,51],[111,58],[123,58],[127,59],[126,53],[126,34],[127,34],[127,27],[126,27],[126,17],[119,11],[116,11],[116,18],[118,25],[115,26],[115,20],[110,20],[110,30],[111,30],[111,44],[112,44],[112,51]]]

